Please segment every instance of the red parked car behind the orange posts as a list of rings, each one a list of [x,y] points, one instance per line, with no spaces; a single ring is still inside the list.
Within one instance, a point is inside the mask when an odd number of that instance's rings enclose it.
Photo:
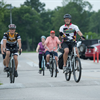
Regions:
[[[99,59],[100,59],[100,43],[88,46],[85,52],[85,57],[89,58],[90,60],[93,60],[94,51],[95,51],[96,58],[97,58],[97,51],[98,51]]]

